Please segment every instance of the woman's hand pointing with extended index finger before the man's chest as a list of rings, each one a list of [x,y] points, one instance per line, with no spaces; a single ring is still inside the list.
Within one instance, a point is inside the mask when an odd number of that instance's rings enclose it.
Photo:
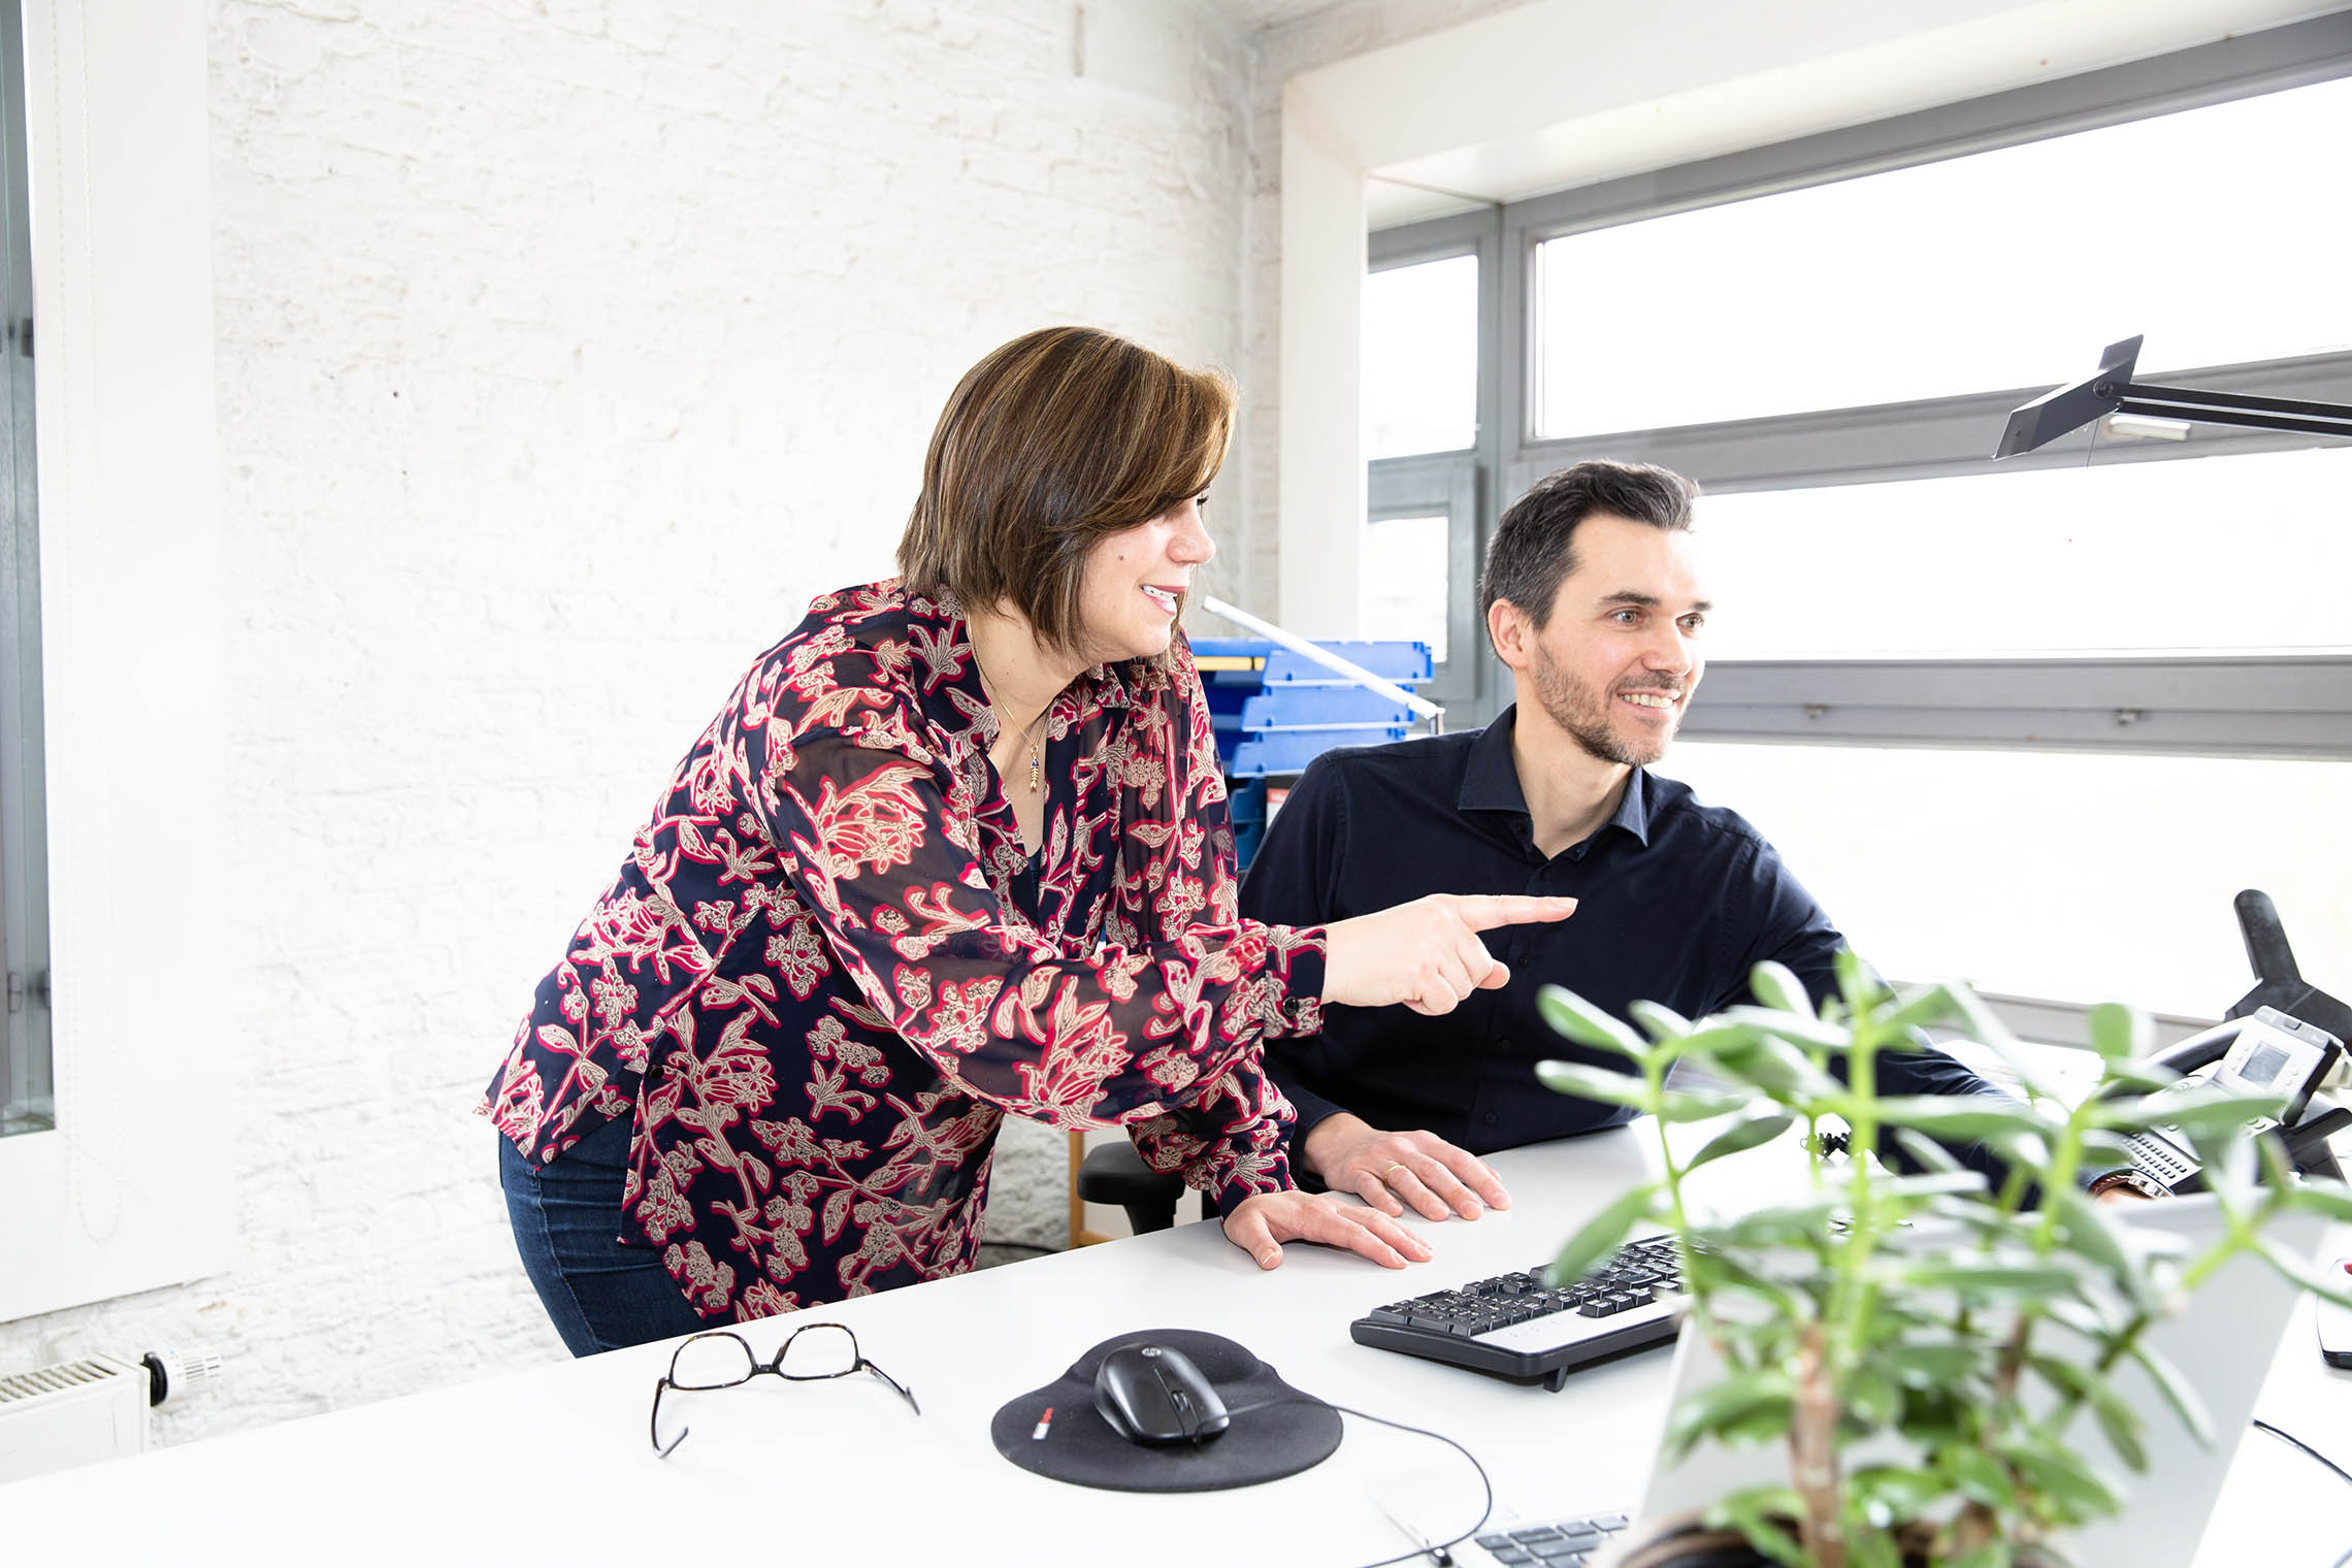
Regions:
[[[1573,898],[1522,893],[1430,893],[1378,914],[1324,926],[1324,1001],[1451,1013],[1470,992],[1510,980],[1479,931],[1531,919],[1566,919]]]

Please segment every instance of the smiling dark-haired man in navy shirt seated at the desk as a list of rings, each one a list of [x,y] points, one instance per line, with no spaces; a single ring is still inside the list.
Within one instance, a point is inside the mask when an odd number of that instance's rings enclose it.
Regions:
[[[1324,924],[1423,893],[1581,900],[1566,922],[1489,933],[1508,985],[1442,1018],[1324,1009],[1319,1037],[1268,1048],[1298,1107],[1291,1164],[1327,1187],[1390,1215],[1477,1218],[1510,1204],[1477,1154],[1628,1119],[1536,1081],[1545,1058],[1623,1070],[1543,1023],[1543,985],[1686,1018],[1748,999],[1762,959],[1816,999],[1835,990],[1844,938],[1773,846],[1649,771],[1705,670],[1693,496],[1635,463],[1536,484],[1503,515],[1479,583],[1515,705],[1484,731],[1329,752],[1268,827],[1242,886],[1251,919]],[[1936,1051],[1882,1058],[1879,1084],[1994,1093]]]

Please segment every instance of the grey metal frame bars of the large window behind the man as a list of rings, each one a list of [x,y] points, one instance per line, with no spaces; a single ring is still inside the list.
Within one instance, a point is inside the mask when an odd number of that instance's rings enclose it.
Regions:
[[[1501,510],[1529,484],[1590,456],[1663,463],[1710,494],[2082,468],[2089,461],[2086,428],[2009,458],[1999,470],[1990,465],[2009,409],[2039,397],[2046,386],[1538,440],[1538,244],[2345,75],[2352,75],[2352,12],[2336,12],[2126,66],[1374,233],[1369,254],[1378,270],[1432,259],[1439,254],[1432,247],[1449,235],[1456,249],[1446,254],[1463,254],[1461,235],[1449,223],[1498,226],[1491,284],[1498,320],[1510,329],[1489,336],[1482,327],[1482,397],[1491,378],[1496,418],[1486,423],[1482,402],[1475,456],[1486,505],[1475,520],[1470,548],[1482,555]],[[1489,270],[1482,263],[1482,301],[1486,292]],[[2098,348],[2082,346],[2086,369]],[[2164,381],[2352,402],[2352,353],[2166,369]],[[2312,435],[2197,425],[2183,442],[2103,444],[2098,465],[2331,444]],[[1381,470],[1378,463],[1371,468]],[[2249,705],[2246,691],[2237,691],[2227,705],[2199,708],[2199,693],[2220,677],[2251,677],[2258,701]],[[1973,686],[1957,689],[1957,682]],[[1477,717],[1491,717],[1508,698],[1508,682],[1491,679],[1479,698]],[[1715,661],[1682,733],[1693,741],[2352,757],[2352,649],[2260,658]]]

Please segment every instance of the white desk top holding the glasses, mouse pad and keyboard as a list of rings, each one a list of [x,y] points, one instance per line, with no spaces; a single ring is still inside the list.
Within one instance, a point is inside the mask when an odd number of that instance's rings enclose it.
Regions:
[[[1475,1512],[1477,1481],[1458,1455],[1355,1420],[1324,1465],[1232,1493],[1096,1493],[997,1458],[988,1420],[1002,1401],[1138,1328],[1223,1333],[1310,1394],[1446,1432],[1522,1514],[1630,1509],[1663,1420],[1663,1352],[1548,1394],[1364,1349],[1348,1321],[1548,1258],[1646,1168],[1646,1152],[1649,1135],[1623,1128],[1501,1154],[1515,1208],[1428,1227],[1437,1258],[1402,1274],[1298,1246],[1261,1274],[1214,1225],[1181,1225],[811,1314],[856,1328],[866,1354],[922,1399],[920,1418],[870,1378],[760,1378],[680,1401],[694,1436],[659,1460],[647,1406],[668,1347],[640,1347],[0,1486],[0,1556],[564,1568],[741,1552],[776,1563],[1345,1568],[1406,1544],[1367,1502],[1383,1474],[1418,1472],[1423,1495],[1456,1495],[1463,1523]],[[790,1324],[753,1324],[746,1338],[767,1352]],[[365,1324],[350,1328],[350,1354],[367,1354]],[[2319,1363],[2298,1314],[2258,1413],[2347,1462],[2347,1382],[2352,1373]],[[2352,1544],[2352,1488],[2249,1434],[2216,1521],[2199,1568],[2324,1568]],[[2263,1552],[2249,1556],[2249,1542]]]

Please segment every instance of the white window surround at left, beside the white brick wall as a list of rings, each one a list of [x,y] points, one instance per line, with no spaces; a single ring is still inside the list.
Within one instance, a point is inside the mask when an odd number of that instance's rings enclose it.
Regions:
[[[45,827],[73,853],[49,858],[56,1126],[0,1138],[0,1324],[230,1260],[238,1119],[223,1072],[242,1039],[219,1004],[219,943],[169,936],[233,933],[223,889],[242,889],[209,482],[207,12],[198,0],[21,7]],[[122,693],[158,670],[172,701],[141,705],[125,729]],[[136,961],[122,961],[132,940]]]

